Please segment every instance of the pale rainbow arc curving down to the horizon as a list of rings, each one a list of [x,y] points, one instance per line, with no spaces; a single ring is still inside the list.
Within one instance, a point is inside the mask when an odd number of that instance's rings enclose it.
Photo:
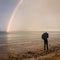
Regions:
[[[12,23],[12,20],[13,20],[15,14],[16,14],[18,8],[21,6],[22,3],[23,3],[23,0],[20,0],[19,3],[17,4],[17,6],[14,8],[14,10],[13,10],[13,12],[12,12],[12,15],[11,15],[11,17],[10,17],[10,19],[9,19],[8,25],[7,25],[7,26],[8,26],[7,29],[6,29],[7,32],[9,32],[9,30],[10,30],[10,25],[11,25],[11,23]]]

